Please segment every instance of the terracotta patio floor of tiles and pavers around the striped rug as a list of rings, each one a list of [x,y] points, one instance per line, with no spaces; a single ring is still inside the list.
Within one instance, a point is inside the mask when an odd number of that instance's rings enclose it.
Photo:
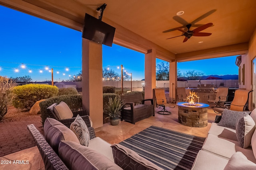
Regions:
[[[172,112],[170,115],[160,115],[149,117],[138,121],[133,125],[121,121],[119,125],[112,126],[109,123],[103,125],[101,129],[96,129],[96,136],[101,137],[110,144],[119,143],[132,135],[150,127],[151,125],[195,135],[206,137],[211,123],[214,122],[216,113],[208,107],[207,127],[188,127],[178,123],[178,107],[167,108]],[[156,108],[156,111],[158,109]],[[44,164],[32,136],[27,130],[28,124],[34,124],[41,133],[41,120],[16,121],[11,123],[0,123],[0,161],[11,161],[12,164],[0,164],[0,170],[44,170]],[[28,160],[29,164],[13,164],[13,160]]]

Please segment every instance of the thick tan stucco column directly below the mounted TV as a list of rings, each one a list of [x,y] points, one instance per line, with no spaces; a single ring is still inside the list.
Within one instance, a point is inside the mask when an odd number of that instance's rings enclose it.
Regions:
[[[94,128],[103,126],[102,45],[82,39],[82,99]]]

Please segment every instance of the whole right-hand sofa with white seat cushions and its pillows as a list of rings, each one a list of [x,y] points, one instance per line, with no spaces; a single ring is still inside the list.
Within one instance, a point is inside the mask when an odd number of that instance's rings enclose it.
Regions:
[[[212,123],[192,170],[256,170],[256,109],[225,109],[220,122]]]

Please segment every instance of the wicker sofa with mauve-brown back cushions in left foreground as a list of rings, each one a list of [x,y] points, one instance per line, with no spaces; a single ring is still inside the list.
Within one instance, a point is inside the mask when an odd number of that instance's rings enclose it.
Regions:
[[[84,116],[81,119],[87,119],[85,123],[90,136],[88,146],[81,145],[81,138],[78,139],[72,130],[56,119],[46,119],[44,136],[34,125],[28,125],[28,130],[44,160],[45,169],[162,170],[133,150],[119,144],[110,145],[100,137],[96,137],[94,128],[90,126],[89,117]]]

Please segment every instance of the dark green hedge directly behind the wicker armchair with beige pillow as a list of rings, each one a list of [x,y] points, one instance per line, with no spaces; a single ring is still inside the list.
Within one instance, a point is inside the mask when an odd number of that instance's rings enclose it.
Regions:
[[[47,117],[50,117],[50,114],[47,111],[47,107],[51,106],[54,103],[59,104],[62,101],[69,106],[71,111],[78,111],[82,109],[82,95],[62,95],[48,98],[39,103],[43,125],[45,119]]]

